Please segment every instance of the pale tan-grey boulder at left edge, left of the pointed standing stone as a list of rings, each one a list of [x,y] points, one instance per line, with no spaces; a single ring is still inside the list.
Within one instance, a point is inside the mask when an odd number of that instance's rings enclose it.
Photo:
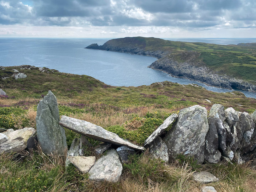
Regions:
[[[18,130],[8,130],[1,133],[1,135],[6,135],[8,140],[6,140],[6,138],[3,139],[5,142],[2,142],[0,145],[0,153],[20,152],[24,150],[27,147],[27,140],[34,132],[36,132],[36,130],[32,127],[25,127]]]

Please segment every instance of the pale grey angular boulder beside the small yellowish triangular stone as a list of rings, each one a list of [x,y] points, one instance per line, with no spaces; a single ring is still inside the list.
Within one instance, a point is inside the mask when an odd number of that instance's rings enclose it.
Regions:
[[[116,150],[107,151],[98,159],[89,171],[89,180],[96,182],[118,182],[122,175],[123,166]]]

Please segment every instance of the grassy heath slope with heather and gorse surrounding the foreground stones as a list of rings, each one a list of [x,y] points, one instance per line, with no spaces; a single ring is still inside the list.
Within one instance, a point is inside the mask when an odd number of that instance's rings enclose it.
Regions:
[[[36,127],[37,103],[49,89],[58,99],[60,115],[95,123],[139,145],[171,113],[188,106],[199,104],[209,110],[214,103],[221,103],[225,108],[234,107],[249,113],[256,108],[255,99],[246,98],[239,92],[237,95],[214,93],[202,87],[172,82],[112,87],[86,75],[46,69],[48,74],[38,68],[20,70],[18,67],[6,67],[0,75],[10,76],[12,69],[28,77],[0,80],[1,88],[9,95],[0,98],[0,127],[5,128]],[[69,146],[79,137],[67,129],[66,136]],[[95,140],[90,139],[90,142],[97,144]],[[185,165],[184,159],[165,165],[145,153],[134,156],[131,163],[124,166],[120,183],[96,184],[72,166],[65,172],[59,158],[44,156],[40,151],[23,155],[26,159],[15,163],[11,160],[12,155],[0,156],[0,191],[199,191],[201,185],[190,181],[194,170],[209,170],[219,176],[221,181],[212,184],[218,191],[256,190],[256,172],[244,166],[198,166],[191,159],[185,160]],[[88,155],[92,155],[90,150]]]

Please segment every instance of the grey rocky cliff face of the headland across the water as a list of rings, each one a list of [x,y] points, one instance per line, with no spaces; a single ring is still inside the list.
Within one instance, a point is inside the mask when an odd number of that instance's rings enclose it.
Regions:
[[[256,91],[256,86],[247,81],[233,78],[225,74],[219,74],[205,66],[202,62],[198,61],[200,52],[187,50],[173,54],[173,50],[167,49],[167,46],[158,47],[158,45],[155,44],[154,48],[148,48],[149,46],[146,45],[147,42],[141,39],[141,37],[112,39],[102,46],[91,44],[86,48],[155,57],[158,58],[158,60],[148,67],[164,71],[172,76],[196,80],[210,86],[223,87],[226,89]],[[163,39],[157,40],[165,41]],[[152,47],[154,45],[151,44],[150,46]],[[182,60],[177,59],[177,56],[178,58],[182,58]]]

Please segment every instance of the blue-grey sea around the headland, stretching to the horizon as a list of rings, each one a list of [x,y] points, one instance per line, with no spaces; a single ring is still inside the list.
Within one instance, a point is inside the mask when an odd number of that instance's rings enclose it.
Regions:
[[[164,38],[170,41],[238,44],[256,42],[256,38]],[[60,72],[89,75],[112,86],[141,86],[171,81],[197,84],[214,92],[230,92],[201,82],[175,78],[148,68],[156,58],[103,50],[84,49],[92,43],[104,44],[105,38],[0,38],[0,66],[33,65]],[[241,90],[239,90],[241,91]],[[255,92],[241,91],[256,98]]]

